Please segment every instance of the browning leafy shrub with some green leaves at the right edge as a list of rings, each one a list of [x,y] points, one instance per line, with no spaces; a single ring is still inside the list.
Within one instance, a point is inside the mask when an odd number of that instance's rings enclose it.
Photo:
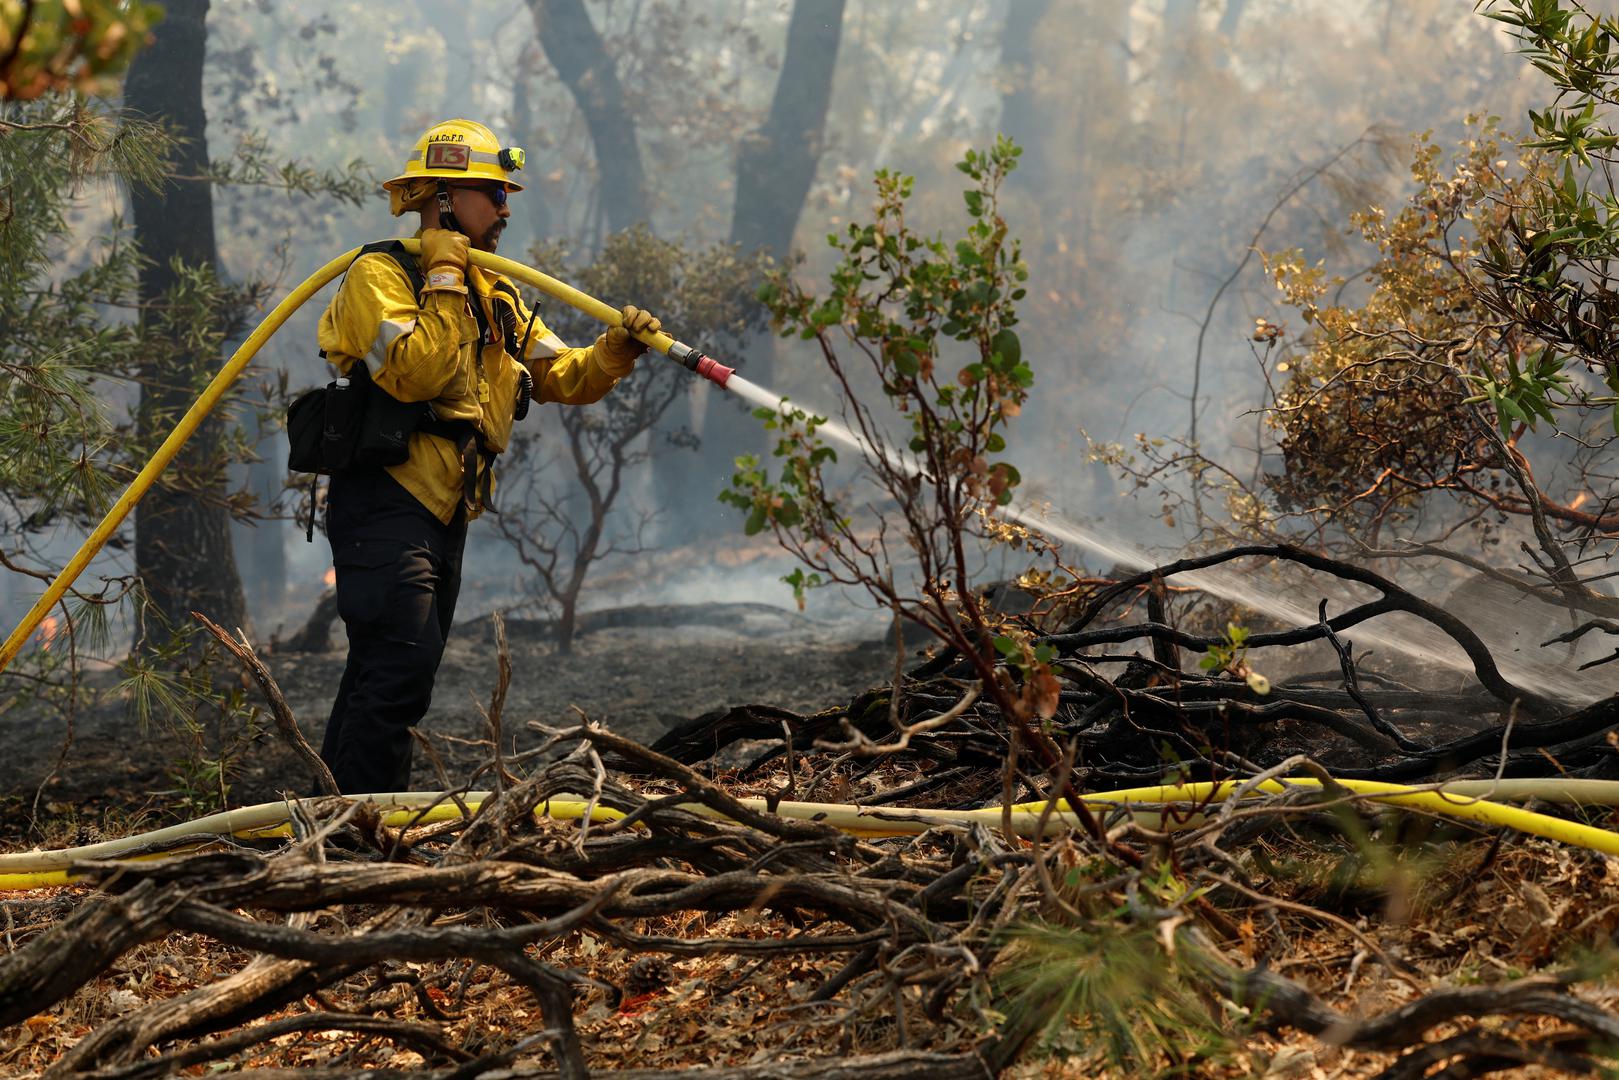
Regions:
[[[1486,15],[1556,91],[1530,110],[1532,134],[1473,117],[1454,152],[1418,138],[1407,189],[1352,215],[1360,246],[1266,253],[1303,329],[1251,330],[1269,389],[1253,471],[1143,442],[1135,474],[1192,463],[1226,499],[1224,539],[1421,559],[1413,573],[1443,588],[1478,573],[1506,604],[1564,609],[1556,641],[1574,641],[1619,615],[1600,585],[1619,551],[1619,204],[1604,172],[1619,21],[1530,0]]]

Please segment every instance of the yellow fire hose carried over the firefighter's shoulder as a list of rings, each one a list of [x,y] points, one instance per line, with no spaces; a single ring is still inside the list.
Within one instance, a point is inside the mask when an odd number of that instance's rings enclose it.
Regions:
[[[421,253],[419,240],[405,240],[403,244],[411,254]],[[180,418],[175,429],[167,439],[164,439],[164,445],[157,447],[157,453],[154,453],[152,460],[146,463],[146,468],[142,468],[139,474],[130,481],[130,487],[118,495],[118,502],[107,510],[100,525],[91,531],[91,534],[79,546],[78,552],[74,552],[73,559],[68,560],[68,565],[62,568],[62,573],[58,573],[44,594],[40,594],[34,607],[23,615],[23,622],[16,625],[11,636],[8,636],[5,644],[0,646],[0,672],[3,672],[13,659],[16,659],[16,654],[23,651],[23,644],[39,627],[40,620],[44,620],[50,609],[55,607],[57,602],[66,594],[66,591],[78,580],[79,573],[91,565],[91,560],[96,559],[102,546],[112,538],[113,533],[118,531],[118,526],[130,517],[130,512],[134,510],[134,505],[146,497],[147,489],[157,483],[157,478],[162,476],[165,468],[168,468],[168,463],[175,460],[176,453],[180,453],[180,447],[186,444],[186,439],[189,439],[202,421],[207,419],[207,415],[214,411],[214,406],[225,397],[225,392],[230,390],[236,379],[241,377],[241,372],[246,371],[253,358],[261,348],[264,348],[264,343],[269,342],[270,337],[282,329],[287,319],[291,317],[291,314],[298,311],[311,296],[321,291],[332,279],[342,275],[358,254],[359,248],[355,248],[353,251],[345,251],[337,256],[306,277],[298,288],[287,293],[287,298],[282,300],[282,303],[275,304],[275,309],[270,311],[270,314],[264,316],[264,321],[259,322],[259,325],[248,335],[225,366],[220,368],[219,374],[214,376],[214,381],[207,384],[206,390],[202,390],[202,395],[193,402],[189,410],[186,410],[186,415]],[[474,266],[494,270],[495,274],[504,274],[510,279],[523,282],[525,285],[531,285],[547,296],[560,300],[572,308],[578,308],[584,314],[593,319],[599,319],[607,325],[618,325],[622,322],[618,311],[614,308],[609,308],[594,296],[581,293],[572,285],[559,282],[547,274],[541,274],[533,267],[513,262],[512,259],[502,259],[500,256],[487,254],[484,251],[473,251],[471,256]],[[730,368],[714,363],[696,348],[677,342],[667,334],[638,334],[636,338],[659,353],[678,359],[688,369],[704,379],[709,379],[711,382],[717,382],[720,387],[725,385],[725,381],[732,374]]]

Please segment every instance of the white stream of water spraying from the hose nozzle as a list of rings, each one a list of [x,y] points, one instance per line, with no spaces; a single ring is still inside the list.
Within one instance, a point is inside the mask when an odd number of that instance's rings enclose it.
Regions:
[[[766,390],[742,376],[732,376],[724,385],[732,393],[754,405],[769,408],[771,411],[780,411],[782,408],[784,398],[780,395],[772,393],[771,390]],[[868,458],[881,457],[911,474],[923,473],[923,463],[913,455],[894,447],[873,447],[866,439],[855,434],[847,424],[837,419],[827,418],[826,423],[818,424],[816,434],[842,444],[847,449],[856,450]],[[1162,563],[1161,559],[1156,559],[1148,549],[1138,544],[1125,541],[1119,536],[1111,536],[1093,526],[1078,525],[1054,510],[1038,510],[1013,499],[1010,504],[1001,507],[999,513],[1001,517],[1017,521],[1018,525],[1035,529],[1051,539],[1112,560],[1112,565],[1115,567],[1151,570],[1153,567]],[[1268,586],[1266,581],[1253,575],[1213,567],[1182,572],[1174,575],[1174,580],[1177,585],[1192,586],[1209,596],[1242,604],[1247,609],[1261,612],[1292,627],[1313,627],[1318,622],[1316,612],[1298,601],[1300,593],[1297,589],[1290,589],[1290,594],[1284,594],[1281,591],[1282,586]],[[1339,601],[1342,609],[1357,602],[1347,597],[1336,583],[1331,589],[1316,589],[1316,594]],[[1475,630],[1480,628],[1475,627]],[[1438,664],[1457,672],[1470,674],[1473,670],[1473,661],[1468,659],[1447,635],[1431,623],[1418,623],[1399,630],[1363,623],[1353,630],[1344,631],[1341,636],[1353,641],[1362,649],[1366,646],[1381,646],[1407,657],[1428,664]],[[1611,691],[1611,688],[1601,685],[1600,680],[1582,677],[1579,672],[1570,670],[1564,664],[1525,661],[1511,656],[1502,657],[1499,654],[1499,643],[1489,641],[1488,635],[1485,636],[1486,644],[1491,644],[1491,653],[1496,654],[1496,665],[1502,677],[1517,687],[1533,688],[1540,695],[1562,698],[1572,703],[1595,701]]]

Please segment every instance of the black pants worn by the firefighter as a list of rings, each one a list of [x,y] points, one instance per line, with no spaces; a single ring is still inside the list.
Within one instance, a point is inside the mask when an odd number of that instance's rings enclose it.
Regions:
[[[321,742],[345,795],[410,790],[410,729],[427,712],[461,589],[466,517],[444,525],[382,470],[332,478],[327,538],[348,665]]]

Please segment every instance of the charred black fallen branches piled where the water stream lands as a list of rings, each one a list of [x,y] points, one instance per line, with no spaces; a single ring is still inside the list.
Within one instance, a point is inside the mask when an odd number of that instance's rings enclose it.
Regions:
[[[1183,670],[1183,649],[1203,653],[1219,646],[1221,638],[1172,625],[1154,589],[1161,591],[1162,580],[1174,573],[1255,557],[1298,562],[1381,591],[1379,599],[1332,617],[1323,602],[1315,627],[1253,633],[1247,640],[1250,649],[1326,643],[1339,657],[1337,672],[1295,678],[1261,695],[1240,678]],[[1141,594],[1148,620],[1104,623],[1120,597]],[[1360,669],[1342,633],[1391,612],[1415,615],[1449,638],[1468,657],[1478,685],[1436,693]],[[1608,733],[1619,725],[1619,698],[1574,708],[1545,688],[1514,685],[1460,619],[1376,573],[1287,546],[1183,559],[1098,589],[1057,631],[1033,623],[1028,630],[1035,643],[1052,646],[1059,657],[1052,670],[1062,691],[1051,735],[1072,743],[1081,790],[1154,784],[1166,766],[1187,779],[1247,776],[1297,753],[1308,753],[1344,779],[1619,777],[1608,743]],[[1117,648],[1132,643],[1145,649]],[[1122,677],[1103,674],[1119,664],[1128,664]],[[905,753],[931,763],[934,772],[924,789],[900,797],[960,784],[965,776],[949,771],[962,767],[976,774],[968,798],[983,805],[999,795],[1009,724],[988,696],[970,690],[968,674],[968,664],[945,653],[847,708],[808,717],[733,708],[698,717],[654,746],[698,764],[732,743],[780,740],[787,732],[795,753],[843,750],[843,761],[861,759],[869,769],[874,751],[892,753],[903,743]],[[754,767],[785,750],[763,751]],[[1039,798],[1041,790],[1041,784],[1028,785],[1022,797]]]

